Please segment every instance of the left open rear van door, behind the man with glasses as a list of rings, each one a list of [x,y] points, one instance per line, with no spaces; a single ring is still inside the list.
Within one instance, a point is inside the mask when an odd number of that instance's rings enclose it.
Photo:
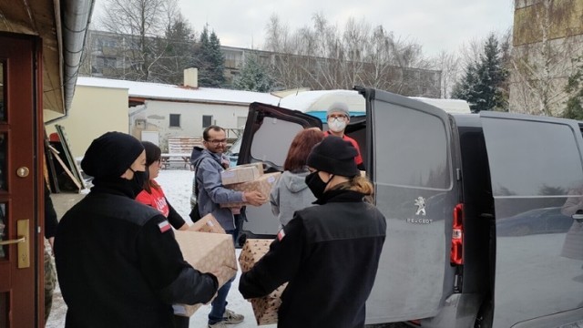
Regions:
[[[281,171],[292,139],[303,128],[322,128],[319,118],[298,110],[252,103],[243,131],[238,164],[265,163],[266,172]],[[261,207],[247,206],[242,233],[250,237],[274,236],[280,221],[271,213],[269,201]]]

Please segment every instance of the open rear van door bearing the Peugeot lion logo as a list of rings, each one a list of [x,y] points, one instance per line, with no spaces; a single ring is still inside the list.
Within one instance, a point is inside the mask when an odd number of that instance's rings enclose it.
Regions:
[[[387,222],[366,323],[433,317],[455,281],[450,241],[460,195],[450,119],[444,110],[409,97],[374,89],[361,93],[367,175]]]

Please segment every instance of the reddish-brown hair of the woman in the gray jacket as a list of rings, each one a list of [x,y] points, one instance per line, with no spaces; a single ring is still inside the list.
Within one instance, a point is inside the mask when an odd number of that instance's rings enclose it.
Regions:
[[[297,172],[306,166],[306,159],[315,144],[322,141],[324,133],[320,128],[305,128],[292,140],[288,156],[283,162],[283,170]]]

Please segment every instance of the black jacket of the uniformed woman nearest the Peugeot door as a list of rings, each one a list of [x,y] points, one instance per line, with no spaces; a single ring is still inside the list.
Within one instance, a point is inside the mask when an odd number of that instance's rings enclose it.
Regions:
[[[270,251],[240,277],[245,298],[281,296],[278,327],[363,327],[386,222],[363,194],[332,190],[321,206],[295,212]]]

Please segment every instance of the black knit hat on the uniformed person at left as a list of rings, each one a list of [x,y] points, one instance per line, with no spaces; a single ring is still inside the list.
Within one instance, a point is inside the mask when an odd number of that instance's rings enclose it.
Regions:
[[[126,133],[107,132],[93,140],[81,160],[81,169],[94,178],[118,178],[144,151],[137,138]]]

